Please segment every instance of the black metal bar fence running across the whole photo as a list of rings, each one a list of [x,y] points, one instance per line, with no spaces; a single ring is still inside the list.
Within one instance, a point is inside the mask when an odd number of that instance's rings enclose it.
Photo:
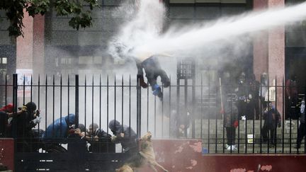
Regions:
[[[18,79],[21,82],[18,83]],[[13,75],[6,76],[1,84],[3,105],[13,103],[15,113],[17,107],[33,101],[41,110],[41,122],[36,130],[47,130],[47,126],[60,117],[68,114],[76,115],[76,126],[97,123],[99,128],[108,134],[108,122],[115,119],[122,125],[128,125],[137,132],[138,137],[145,132],[152,132],[155,138],[165,139],[201,139],[203,154],[293,154],[305,153],[305,139],[299,149],[295,149],[297,132],[300,122],[297,118],[285,117],[285,83],[268,88],[268,102],[271,91],[274,91],[273,104],[281,115],[281,126],[276,127],[276,144],[271,145],[271,139],[263,142],[263,105],[259,102],[259,119],[242,120],[239,117],[236,134],[236,148],[227,148],[227,134],[224,127],[224,117],[220,113],[221,87],[218,82],[177,79],[176,85],[162,87],[163,100],[153,96],[151,88],[143,89],[137,85],[137,79],[128,76],[38,76],[32,77]],[[44,81],[42,81],[44,80]],[[183,84],[182,84],[183,83]],[[278,82],[276,82],[278,83]],[[224,88],[226,86],[222,86]],[[271,89],[273,88],[273,89]],[[261,88],[262,90],[262,88]],[[236,93],[225,93],[225,101],[235,102]],[[299,105],[303,94],[297,99]],[[281,99],[281,100],[280,100]],[[279,105],[282,103],[282,105]],[[282,108],[282,109],[279,109]],[[299,111],[298,107],[295,110]],[[296,111],[296,112],[297,112]],[[13,127],[14,132],[14,127]],[[16,131],[15,131],[16,132]],[[13,135],[14,137],[14,135]],[[271,135],[269,136],[271,138]],[[62,138],[67,139],[67,138]],[[63,142],[60,142],[63,143]],[[64,144],[65,145],[65,144]],[[67,148],[67,146],[64,146]],[[121,152],[116,147],[115,152]],[[40,152],[44,152],[41,149]]]

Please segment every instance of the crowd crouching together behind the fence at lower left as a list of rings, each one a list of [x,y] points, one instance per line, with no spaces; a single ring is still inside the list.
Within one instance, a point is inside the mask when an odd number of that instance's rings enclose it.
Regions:
[[[114,152],[115,144],[121,144],[124,152],[137,151],[137,134],[131,127],[121,125],[117,120],[108,124],[113,136],[92,123],[89,129],[76,124],[74,114],[53,121],[46,130],[35,128],[40,123],[40,110],[29,102],[13,110],[13,104],[0,109],[0,137],[13,137],[17,141],[16,151],[32,152],[44,149],[47,152],[69,151],[69,138],[79,140],[87,152]],[[76,127],[77,125],[77,127]],[[68,144],[67,148],[62,144]]]

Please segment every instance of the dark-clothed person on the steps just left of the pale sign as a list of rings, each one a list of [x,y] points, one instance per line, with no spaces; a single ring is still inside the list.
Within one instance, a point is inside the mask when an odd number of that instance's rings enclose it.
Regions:
[[[259,120],[259,81],[256,81],[255,75],[251,74],[248,81],[249,85],[249,100],[246,105],[248,120]]]

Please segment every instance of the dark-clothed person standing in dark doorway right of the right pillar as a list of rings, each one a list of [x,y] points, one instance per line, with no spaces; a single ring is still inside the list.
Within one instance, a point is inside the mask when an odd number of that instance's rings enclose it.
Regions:
[[[297,81],[294,74],[285,82],[285,107],[286,118],[297,119]]]

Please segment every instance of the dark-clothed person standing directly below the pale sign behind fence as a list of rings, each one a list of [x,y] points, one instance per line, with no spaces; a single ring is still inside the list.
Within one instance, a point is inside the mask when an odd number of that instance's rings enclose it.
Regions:
[[[276,146],[276,127],[280,127],[280,113],[278,113],[278,110],[276,110],[272,103],[269,103],[264,111],[263,120],[263,127],[261,129],[263,142],[270,140],[270,146],[274,147]],[[271,139],[269,139],[269,136]]]

